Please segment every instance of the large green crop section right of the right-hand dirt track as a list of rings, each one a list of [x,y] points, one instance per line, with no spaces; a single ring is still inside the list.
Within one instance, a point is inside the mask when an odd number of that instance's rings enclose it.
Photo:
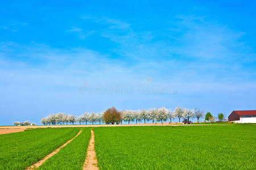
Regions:
[[[100,169],[256,169],[256,126],[93,128]]]

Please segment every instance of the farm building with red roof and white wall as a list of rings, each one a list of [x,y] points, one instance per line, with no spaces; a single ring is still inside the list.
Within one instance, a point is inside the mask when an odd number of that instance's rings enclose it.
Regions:
[[[256,123],[256,111],[233,111],[229,121],[236,123]]]

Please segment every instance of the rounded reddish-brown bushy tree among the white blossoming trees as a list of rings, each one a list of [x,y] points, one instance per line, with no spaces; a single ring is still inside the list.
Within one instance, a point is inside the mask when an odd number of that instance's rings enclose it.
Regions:
[[[121,121],[121,112],[112,107],[104,112],[103,118],[106,124],[118,124]]]

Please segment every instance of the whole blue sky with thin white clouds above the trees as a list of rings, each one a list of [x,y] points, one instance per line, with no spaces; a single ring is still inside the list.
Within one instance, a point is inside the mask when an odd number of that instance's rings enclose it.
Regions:
[[[112,106],[256,109],[255,5],[1,1],[0,125]],[[109,91],[138,84],[168,92]]]

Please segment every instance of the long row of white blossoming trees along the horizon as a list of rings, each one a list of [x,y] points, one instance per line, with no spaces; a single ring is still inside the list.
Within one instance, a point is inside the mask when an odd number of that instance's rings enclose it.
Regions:
[[[120,124],[123,121],[130,124],[130,122],[143,122],[146,124],[147,121],[152,123],[167,121],[171,123],[174,118],[178,118],[179,122],[181,118],[187,118],[188,120],[192,118],[197,118],[197,122],[199,122],[199,118],[204,116],[204,112],[200,111],[200,109],[184,109],[181,107],[177,107],[174,111],[171,109],[162,108],[153,108],[153,109],[142,109],[142,110],[125,110],[119,111],[121,113]],[[44,125],[57,125],[57,124],[74,124],[75,122],[79,122],[81,125],[85,123],[87,125],[88,122],[94,124],[98,122],[101,124],[104,122],[104,112],[100,113],[82,113],[79,117],[76,117],[73,114],[65,114],[65,113],[55,113],[49,114],[49,116],[42,118],[41,122]]]

